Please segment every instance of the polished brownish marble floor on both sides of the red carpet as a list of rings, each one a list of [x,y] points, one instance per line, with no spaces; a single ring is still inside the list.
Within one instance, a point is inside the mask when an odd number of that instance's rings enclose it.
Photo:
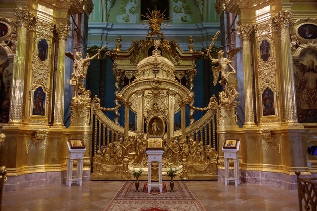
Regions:
[[[94,181],[82,186],[38,186],[3,194],[2,211],[103,211],[122,181]],[[297,191],[278,187],[225,186],[218,181],[188,181],[187,186],[206,211],[295,211]],[[124,211],[124,210],[123,210]]]

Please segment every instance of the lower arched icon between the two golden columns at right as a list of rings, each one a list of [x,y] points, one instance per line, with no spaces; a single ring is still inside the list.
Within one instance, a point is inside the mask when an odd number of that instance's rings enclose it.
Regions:
[[[262,93],[263,116],[275,116],[275,93],[267,87]]]

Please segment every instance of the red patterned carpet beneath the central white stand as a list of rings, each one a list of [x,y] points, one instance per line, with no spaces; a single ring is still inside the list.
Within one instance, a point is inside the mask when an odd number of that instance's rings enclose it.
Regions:
[[[140,181],[139,192],[135,190],[135,181],[125,182],[104,211],[205,211],[183,181],[174,182],[174,192],[170,182],[163,182],[163,193],[156,187],[147,193],[147,181]]]

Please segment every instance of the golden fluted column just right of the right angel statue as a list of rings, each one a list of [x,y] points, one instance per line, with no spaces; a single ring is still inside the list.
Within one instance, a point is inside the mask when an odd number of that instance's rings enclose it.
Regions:
[[[251,44],[252,25],[238,26],[238,34],[243,44],[243,80],[245,94],[245,126],[255,126],[252,95]]]

